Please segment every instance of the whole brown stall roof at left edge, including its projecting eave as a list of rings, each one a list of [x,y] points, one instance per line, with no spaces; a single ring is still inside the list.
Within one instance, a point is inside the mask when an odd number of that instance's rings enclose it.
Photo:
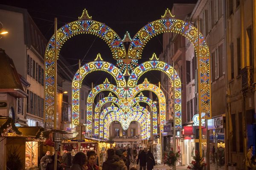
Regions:
[[[26,97],[19,74],[12,59],[0,48],[0,93],[10,93],[16,97]]]

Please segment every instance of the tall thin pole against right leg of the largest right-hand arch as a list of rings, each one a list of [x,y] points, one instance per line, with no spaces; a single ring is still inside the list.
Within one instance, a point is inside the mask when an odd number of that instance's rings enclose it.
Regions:
[[[199,114],[199,153],[200,156],[202,156],[202,116],[201,116],[201,86],[200,86],[200,56],[199,56],[199,48],[200,48],[200,19],[198,16],[198,46],[197,46],[197,57],[198,57],[198,103],[199,103],[199,109],[198,109],[198,114]]]

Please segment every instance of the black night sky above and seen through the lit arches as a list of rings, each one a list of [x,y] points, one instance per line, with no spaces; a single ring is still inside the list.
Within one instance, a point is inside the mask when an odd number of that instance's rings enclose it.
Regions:
[[[147,23],[160,19],[166,8],[171,9],[173,3],[196,3],[197,0],[2,0],[0,3],[9,6],[26,8],[38,28],[47,40],[54,34],[54,17],[58,18],[58,28],[78,20],[84,8],[87,9],[92,20],[105,23],[123,38],[126,31],[131,38]],[[147,61],[155,52],[161,53],[162,35],[152,38],[145,46],[142,59]],[[79,34],[68,40],[60,51],[61,55],[70,63],[70,68],[78,69],[78,59],[82,64],[95,59],[101,53],[105,61],[116,64],[111,56],[108,45],[99,37],[91,34]],[[108,74],[93,72],[86,77],[86,84],[94,82],[101,84]],[[159,72],[148,73],[141,79],[148,77],[152,83],[160,80]],[[140,80],[141,82],[142,80]],[[111,81],[113,82],[113,80]],[[115,83],[114,83],[115,84]]]

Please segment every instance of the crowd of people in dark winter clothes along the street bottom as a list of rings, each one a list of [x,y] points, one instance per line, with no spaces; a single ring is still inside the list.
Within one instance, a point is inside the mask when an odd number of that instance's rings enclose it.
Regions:
[[[150,150],[140,148],[111,148],[107,150],[107,159],[102,167],[96,164],[97,154],[94,150],[76,153],[72,158],[69,151],[63,150],[63,156],[57,155],[57,170],[152,170],[155,165],[154,156]],[[41,170],[54,170],[55,156],[50,155],[50,151],[41,158]],[[130,168],[131,167],[131,168]]]

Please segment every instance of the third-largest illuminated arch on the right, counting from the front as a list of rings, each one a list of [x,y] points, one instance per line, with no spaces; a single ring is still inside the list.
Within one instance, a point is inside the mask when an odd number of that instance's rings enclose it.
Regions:
[[[154,94],[157,95],[158,101],[160,102],[160,130],[161,132],[163,132],[163,124],[166,120],[166,98],[163,94],[163,91],[156,85],[149,83],[147,79],[145,79],[142,84],[132,88],[133,96],[136,96],[141,91],[152,91]]]

